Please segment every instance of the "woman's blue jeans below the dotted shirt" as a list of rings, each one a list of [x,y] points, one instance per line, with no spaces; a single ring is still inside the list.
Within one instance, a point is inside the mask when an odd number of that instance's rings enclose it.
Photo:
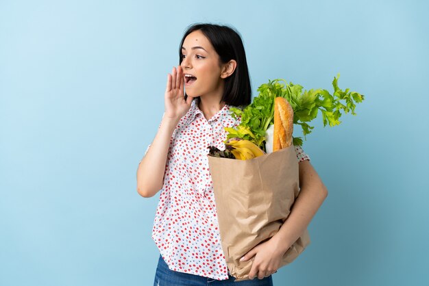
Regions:
[[[273,286],[273,277],[271,275],[260,280],[256,276],[253,280],[234,281],[235,278],[233,276],[230,276],[228,280],[219,281],[212,278],[170,270],[169,266],[160,255],[160,259],[158,259],[158,267],[156,268],[154,286]]]

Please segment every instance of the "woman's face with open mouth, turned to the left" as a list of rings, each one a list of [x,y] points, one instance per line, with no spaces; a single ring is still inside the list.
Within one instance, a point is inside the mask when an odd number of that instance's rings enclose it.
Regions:
[[[188,96],[219,96],[223,79],[219,55],[212,44],[197,30],[186,36],[182,46],[184,86]]]

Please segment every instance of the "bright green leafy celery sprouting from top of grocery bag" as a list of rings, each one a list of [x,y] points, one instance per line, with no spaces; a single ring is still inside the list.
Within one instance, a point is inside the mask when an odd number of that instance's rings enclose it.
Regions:
[[[339,74],[334,77],[332,86],[333,94],[328,90],[303,90],[302,86],[293,83],[287,83],[284,79],[275,79],[262,84],[258,88],[259,95],[247,107],[232,107],[232,116],[237,118],[241,116],[241,124],[238,127],[225,127],[228,132],[227,140],[233,137],[239,137],[250,140],[263,150],[265,149],[265,131],[274,124],[274,99],[275,97],[284,97],[293,108],[293,124],[302,127],[302,133],[306,140],[306,135],[310,134],[313,126],[308,123],[317,117],[319,111],[322,114],[323,127],[329,125],[333,127],[339,125],[341,115],[354,112],[356,103],[361,103],[364,96],[358,92],[345,91],[338,87]],[[343,112],[343,113],[342,113]],[[303,140],[300,137],[293,138],[295,146],[302,146]]]

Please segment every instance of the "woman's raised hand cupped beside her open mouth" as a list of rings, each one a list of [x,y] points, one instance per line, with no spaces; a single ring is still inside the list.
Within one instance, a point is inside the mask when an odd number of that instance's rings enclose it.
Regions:
[[[173,67],[173,72],[167,77],[167,88],[165,90],[165,116],[179,120],[188,112],[193,98],[184,98],[184,78],[181,66]]]

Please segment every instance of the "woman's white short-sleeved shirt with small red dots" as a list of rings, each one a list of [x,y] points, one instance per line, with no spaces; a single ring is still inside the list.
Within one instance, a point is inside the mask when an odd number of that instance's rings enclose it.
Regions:
[[[152,239],[171,270],[228,279],[207,155],[208,146],[225,150],[223,128],[239,123],[229,105],[207,120],[194,100],[173,131],[152,229]],[[299,161],[309,159],[302,148],[295,151]]]

